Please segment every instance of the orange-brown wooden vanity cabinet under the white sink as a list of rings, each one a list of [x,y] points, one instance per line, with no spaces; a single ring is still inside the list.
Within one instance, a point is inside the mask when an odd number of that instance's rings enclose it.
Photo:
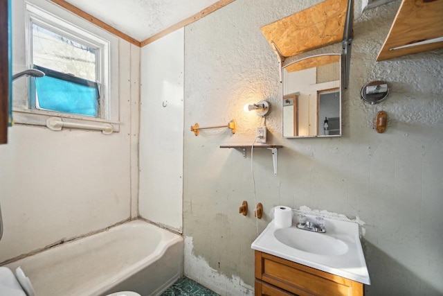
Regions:
[[[363,284],[255,251],[255,296],[363,296]]]

